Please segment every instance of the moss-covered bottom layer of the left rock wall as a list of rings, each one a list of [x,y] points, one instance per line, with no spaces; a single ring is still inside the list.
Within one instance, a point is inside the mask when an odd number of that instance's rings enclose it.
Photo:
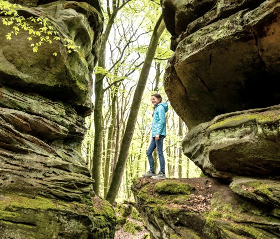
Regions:
[[[89,203],[0,194],[0,239],[112,239],[115,215],[100,198]]]

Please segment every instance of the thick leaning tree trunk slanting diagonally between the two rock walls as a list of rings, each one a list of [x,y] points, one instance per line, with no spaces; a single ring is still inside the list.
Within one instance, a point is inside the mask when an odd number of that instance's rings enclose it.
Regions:
[[[119,157],[116,163],[115,171],[113,173],[112,182],[106,197],[106,200],[110,202],[112,205],[115,201],[117,191],[121,183],[121,178],[123,175],[123,171],[125,168],[125,163],[128,155],[129,145],[133,136],[136,118],[139,111],[142,95],[145,89],[146,81],[148,78],[151,62],[155,54],[158,40],[164,29],[165,29],[165,24],[163,22],[162,15],[160,15],[153,29],[153,33],[147,49],[147,54],[134,92],[134,96],[133,96],[133,100],[132,100],[132,104],[127,120],[127,125],[125,128],[123,140],[120,145]]]

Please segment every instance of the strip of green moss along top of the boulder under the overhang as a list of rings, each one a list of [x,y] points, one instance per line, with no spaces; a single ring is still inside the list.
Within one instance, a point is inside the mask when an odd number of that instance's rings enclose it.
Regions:
[[[273,113],[259,113],[259,114],[248,114],[248,115],[236,115],[224,120],[221,120],[219,122],[216,122],[209,126],[209,129],[211,128],[219,128],[222,126],[226,126],[228,123],[238,122],[241,120],[252,120],[255,119],[256,121],[260,123],[265,123],[269,121],[276,121],[280,119],[280,114],[278,112]]]

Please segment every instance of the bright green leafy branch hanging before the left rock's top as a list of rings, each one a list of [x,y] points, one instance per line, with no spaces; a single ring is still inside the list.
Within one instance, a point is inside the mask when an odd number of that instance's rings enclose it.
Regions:
[[[49,20],[43,16],[37,17],[23,17],[20,16],[16,9],[22,8],[19,4],[12,4],[8,1],[0,0],[0,15],[4,15],[2,19],[3,25],[10,26],[12,30],[8,32],[5,37],[11,40],[12,35],[18,35],[20,30],[27,31],[29,36],[28,40],[35,39],[35,43],[31,43],[33,52],[38,51],[38,47],[43,43],[52,43],[52,40],[60,40],[59,33],[53,29],[49,24]],[[80,46],[74,45],[71,39],[63,39],[63,46],[66,47],[68,53],[72,50],[80,49]],[[56,52],[53,53],[57,55]]]

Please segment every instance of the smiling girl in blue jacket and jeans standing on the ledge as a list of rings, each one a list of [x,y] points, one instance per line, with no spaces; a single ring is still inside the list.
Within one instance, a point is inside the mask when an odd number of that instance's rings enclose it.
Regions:
[[[162,98],[160,94],[156,93],[151,96],[151,103],[153,104],[153,118],[151,126],[151,141],[147,149],[147,157],[149,162],[149,171],[143,174],[142,177],[152,179],[165,179],[165,160],[163,156],[163,139],[166,136],[166,120],[165,113],[168,110],[167,102],[161,103]],[[152,152],[156,148],[159,158],[160,171],[157,175],[154,173],[154,161]]]

